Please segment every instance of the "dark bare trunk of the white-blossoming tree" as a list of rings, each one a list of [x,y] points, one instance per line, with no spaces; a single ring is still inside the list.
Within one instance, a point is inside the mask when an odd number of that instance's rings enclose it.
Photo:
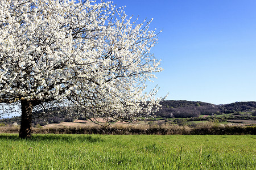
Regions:
[[[32,109],[33,105],[31,101],[20,100],[22,107],[22,116],[19,130],[19,138],[30,138],[32,133],[31,121],[32,121]]]

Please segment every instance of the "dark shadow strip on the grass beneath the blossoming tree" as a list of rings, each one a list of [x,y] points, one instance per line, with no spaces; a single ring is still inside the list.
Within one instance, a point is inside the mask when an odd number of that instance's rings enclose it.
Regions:
[[[35,142],[54,142],[54,141],[63,141],[63,142],[103,142],[104,140],[100,137],[93,137],[92,135],[73,135],[73,134],[32,134],[31,138],[22,139],[18,137],[18,134],[0,134],[0,140],[7,139],[11,141],[35,141]]]

